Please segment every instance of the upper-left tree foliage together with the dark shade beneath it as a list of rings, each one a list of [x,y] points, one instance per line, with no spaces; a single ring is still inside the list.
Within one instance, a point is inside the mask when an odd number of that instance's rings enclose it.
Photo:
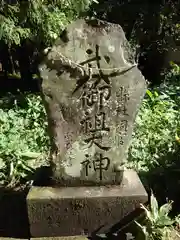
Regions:
[[[96,0],[0,1],[1,68],[30,82],[43,50]]]

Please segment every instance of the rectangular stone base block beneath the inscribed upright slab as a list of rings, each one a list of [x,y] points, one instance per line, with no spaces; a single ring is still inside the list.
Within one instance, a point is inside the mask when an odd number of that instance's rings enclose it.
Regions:
[[[124,171],[120,185],[32,187],[27,195],[30,233],[32,237],[107,233],[147,199],[133,170]]]

